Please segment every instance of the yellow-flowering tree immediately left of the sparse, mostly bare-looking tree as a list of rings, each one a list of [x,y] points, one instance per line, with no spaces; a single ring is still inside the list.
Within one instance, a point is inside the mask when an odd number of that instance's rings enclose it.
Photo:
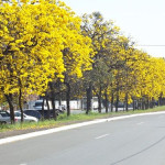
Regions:
[[[66,100],[67,100],[67,116],[70,114],[69,100],[70,100],[70,84],[81,78],[86,70],[91,69],[92,54],[91,40],[88,36],[84,36],[80,30],[80,20],[75,19],[74,25],[72,24],[66,38],[66,48],[63,51],[64,65],[66,70],[64,72],[64,84],[67,87]]]

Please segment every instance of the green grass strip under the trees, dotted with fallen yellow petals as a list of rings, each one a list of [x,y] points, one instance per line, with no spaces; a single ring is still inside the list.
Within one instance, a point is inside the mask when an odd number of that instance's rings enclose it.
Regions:
[[[119,117],[119,116],[128,116],[128,114],[135,114],[135,113],[145,113],[145,112],[156,112],[156,111],[165,111],[165,106],[163,107],[155,107],[153,109],[147,110],[129,110],[129,111],[119,111],[119,112],[109,112],[109,113],[98,113],[90,112],[89,114],[80,113],[80,114],[70,114],[69,117],[66,116],[66,113],[58,116],[57,120],[44,120],[38,121],[36,123],[31,122],[24,122],[24,123],[15,123],[15,124],[1,124],[0,125],[0,132],[7,132],[7,131],[14,131],[14,130],[45,130],[51,128],[58,128],[67,124],[84,122],[84,121],[90,121],[95,119],[101,119],[101,118],[112,118],[112,117]]]

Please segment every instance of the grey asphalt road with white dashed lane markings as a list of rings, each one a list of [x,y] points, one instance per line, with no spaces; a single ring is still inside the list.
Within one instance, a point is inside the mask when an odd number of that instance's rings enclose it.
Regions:
[[[0,165],[165,165],[165,114],[2,144]]]

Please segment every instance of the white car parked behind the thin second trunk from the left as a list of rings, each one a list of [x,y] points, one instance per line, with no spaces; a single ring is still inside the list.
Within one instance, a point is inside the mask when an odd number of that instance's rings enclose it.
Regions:
[[[15,120],[18,122],[21,122],[21,112],[20,111],[14,111],[14,116],[15,116]],[[38,119],[35,117],[31,117],[31,116],[26,116],[25,113],[23,113],[23,120],[25,122],[37,122]]]

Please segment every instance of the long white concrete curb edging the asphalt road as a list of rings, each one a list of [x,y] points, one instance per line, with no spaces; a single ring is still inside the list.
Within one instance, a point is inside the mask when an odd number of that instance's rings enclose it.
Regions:
[[[65,127],[44,130],[44,131],[37,131],[37,132],[26,133],[26,134],[22,134],[22,135],[10,136],[10,138],[6,138],[6,139],[1,139],[0,145],[11,143],[11,142],[16,142],[20,140],[26,140],[26,139],[31,139],[31,138],[35,138],[35,136],[51,134],[51,133],[55,133],[55,132],[61,132],[61,131],[65,131],[65,130],[70,130],[70,129],[75,129],[75,128],[80,128],[80,127],[85,127],[85,125],[91,125],[91,124],[96,124],[96,123],[116,121],[116,120],[121,120],[121,119],[129,119],[129,118],[134,118],[134,117],[152,116],[152,114],[165,114],[165,111],[130,114],[130,116],[114,117],[114,118],[108,118],[108,119],[96,119],[94,121],[76,123],[76,124],[72,124],[72,125],[65,125]]]

